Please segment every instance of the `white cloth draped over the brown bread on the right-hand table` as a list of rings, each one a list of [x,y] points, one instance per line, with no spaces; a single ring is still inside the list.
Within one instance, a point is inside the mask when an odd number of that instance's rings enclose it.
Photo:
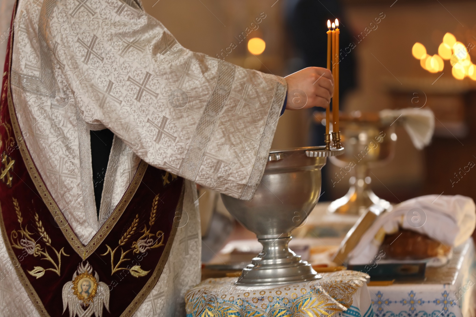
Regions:
[[[475,230],[476,206],[471,198],[461,195],[426,195],[402,202],[370,226],[349,253],[349,264],[369,263],[379,252],[385,234],[397,232],[399,226],[457,247]]]

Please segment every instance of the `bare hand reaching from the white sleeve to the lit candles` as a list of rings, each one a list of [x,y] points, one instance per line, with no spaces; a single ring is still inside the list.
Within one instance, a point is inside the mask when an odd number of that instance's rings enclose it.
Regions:
[[[286,109],[297,110],[329,106],[334,79],[327,68],[307,67],[284,77],[288,83]]]

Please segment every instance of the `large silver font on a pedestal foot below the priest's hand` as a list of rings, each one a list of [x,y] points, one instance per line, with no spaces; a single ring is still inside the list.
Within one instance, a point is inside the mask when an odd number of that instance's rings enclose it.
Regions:
[[[272,151],[249,202],[222,194],[228,211],[256,233],[263,250],[243,269],[237,285],[288,284],[320,279],[311,265],[289,250],[291,231],[302,225],[321,192],[321,168],[344,148],[325,146]]]

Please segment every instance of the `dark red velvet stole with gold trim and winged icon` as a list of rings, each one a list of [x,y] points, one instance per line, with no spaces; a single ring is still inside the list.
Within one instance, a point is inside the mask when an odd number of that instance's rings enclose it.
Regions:
[[[169,257],[184,182],[142,162],[109,219],[82,245],[41,180],[23,140],[28,136],[18,126],[11,38],[0,103],[0,227],[11,266],[41,316],[131,316]],[[0,272],[0,279],[7,274],[14,273]]]

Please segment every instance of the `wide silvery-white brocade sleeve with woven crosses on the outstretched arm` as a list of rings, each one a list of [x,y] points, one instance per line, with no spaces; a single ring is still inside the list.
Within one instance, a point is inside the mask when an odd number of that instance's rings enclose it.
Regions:
[[[282,77],[183,48],[135,2],[62,0],[49,45],[86,123],[145,162],[250,200],[286,96]]]

